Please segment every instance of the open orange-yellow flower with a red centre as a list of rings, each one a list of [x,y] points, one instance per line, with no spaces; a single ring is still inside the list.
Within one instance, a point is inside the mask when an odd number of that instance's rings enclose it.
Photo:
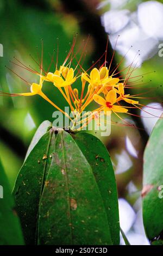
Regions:
[[[128,112],[128,109],[121,106],[114,105],[114,103],[116,103],[116,100],[117,100],[117,94],[115,90],[110,90],[106,95],[106,99],[95,94],[93,96],[93,100],[95,100],[99,105],[103,106],[103,110],[107,115],[110,115],[111,112],[117,112],[117,113]]]

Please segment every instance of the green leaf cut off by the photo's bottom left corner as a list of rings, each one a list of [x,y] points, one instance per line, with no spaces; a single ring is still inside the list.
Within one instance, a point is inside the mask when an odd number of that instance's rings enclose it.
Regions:
[[[20,221],[9,183],[0,161],[0,245],[23,245]]]

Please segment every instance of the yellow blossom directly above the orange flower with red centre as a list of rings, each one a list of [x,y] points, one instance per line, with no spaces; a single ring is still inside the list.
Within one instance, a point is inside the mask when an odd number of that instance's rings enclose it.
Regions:
[[[109,76],[109,70],[105,66],[100,70],[97,68],[92,69],[90,76],[83,73],[82,77],[85,81],[89,82],[92,88],[97,88],[98,86],[112,86],[112,84],[116,84],[120,81],[118,78]]]

